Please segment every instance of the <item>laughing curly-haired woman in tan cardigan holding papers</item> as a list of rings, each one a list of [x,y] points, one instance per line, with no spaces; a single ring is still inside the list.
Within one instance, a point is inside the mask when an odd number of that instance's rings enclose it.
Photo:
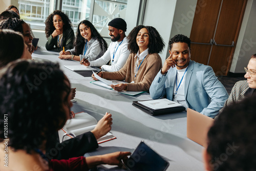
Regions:
[[[154,27],[142,25],[135,27],[127,39],[131,54],[123,68],[117,72],[100,72],[98,75],[105,79],[125,79],[127,83],[111,85],[116,91],[148,91],[162,68],[158,53],[164,47],[163,39]],[[94,75],[92,77],[97,80]]]

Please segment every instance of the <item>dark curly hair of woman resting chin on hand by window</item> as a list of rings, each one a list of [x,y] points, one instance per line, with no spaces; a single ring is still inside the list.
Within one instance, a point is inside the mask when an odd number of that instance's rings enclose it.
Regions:
[[[51,13],[47,19],[46,19],[46,38],[49,38],[50,35],[53,33],[53,31],[55,30],[55,27],[53,25],[53,16],[54,15],[59,15],[63,21],[63,30],[68,30],[68,29],[71,29],[72,28],[72,23],[69,19],[69,17],[63,13],[62,11],[59,11],[59,10],[55,10],[53,11],[53,13]]]

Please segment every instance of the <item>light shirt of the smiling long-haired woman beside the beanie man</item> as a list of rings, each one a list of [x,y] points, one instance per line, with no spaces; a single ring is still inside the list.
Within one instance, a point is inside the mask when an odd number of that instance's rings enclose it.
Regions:
[[[88,61],[93,61],[100,58],[104,54],[104,51],[101,50],[99,41],[97,39],[91,38],[91,40],[87,42],[87,45],[86,45],[86,41],[87,40],[84,39],[85,44],[83,46],[82,54],[79,55],[80,60],[82,60],[82,58],[88,57]],[[86,51],[86,54],[83,55],[84,49],[86,48],[86,46],[87,46],[87,51]],[[75,54],[75,48],[67,51],[70,52],[71,55]]]

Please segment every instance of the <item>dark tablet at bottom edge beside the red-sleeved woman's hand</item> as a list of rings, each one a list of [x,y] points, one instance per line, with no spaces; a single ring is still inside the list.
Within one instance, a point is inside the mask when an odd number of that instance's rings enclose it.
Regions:
[[[130,171],[164,171],[169,163],[141,141],[124,165]]]

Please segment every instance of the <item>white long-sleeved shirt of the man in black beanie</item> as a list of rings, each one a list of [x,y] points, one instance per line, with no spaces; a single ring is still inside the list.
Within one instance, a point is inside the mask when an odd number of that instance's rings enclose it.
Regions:
[[[128,50],[128,41],[124,37],[122,43],[121,41],[112,41],[108,50],[104,53],[102,57],[97,60],[91,61],[91,67],[101,67],[104,71],[114,72],[119,71],[125,64],[127,58],[129,57],[130,51]],[[120,44],[120,45],[119,45]],[[119,47],[118,47],[119,45]],[[118,47],[118,49],[116,49]],[[113,54],[115,51],[114,61],[111,62],[111,66],[106,65],[110,60],[113,59]]]

